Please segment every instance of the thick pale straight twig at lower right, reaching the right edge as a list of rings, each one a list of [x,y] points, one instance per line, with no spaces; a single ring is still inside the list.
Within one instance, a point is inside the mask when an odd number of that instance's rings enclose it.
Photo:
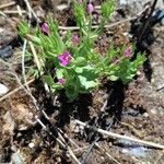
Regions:
[[[137,142],[137,143],[139,143],[139,144],[144,144],[144,145],[148,145],[148,147],[152,147],[152,148],[156,148],[156,149],[162,149],[162,150],[164,150],[164,145],[159,144],[159,143],[149,142],[149,141],[143,141],[143,140],[134,139],[134,138],[131,138],[131,137],[128,137],[128,136],[122,136],[122,134],[118,134],[118,133],[115,133],[115,132],[106,131],[106,130],[103,130],[103,129],[99,129],[99,128],[94,128],[94,127],[92,127],[92,126],[89,126],[89,125],[86,125],[86,124],[80,121],[80,120],[75,120],[75,122],[77,122],[78,125],[84,126],[84,127],[87,128],[87,129],[92,129],[93,131],[96,131],[96,132],[99,132],[99,133],[109,136],[109,137],[112,137],[112,138],[129,140],[129,141],[132,141],[132,142]]]

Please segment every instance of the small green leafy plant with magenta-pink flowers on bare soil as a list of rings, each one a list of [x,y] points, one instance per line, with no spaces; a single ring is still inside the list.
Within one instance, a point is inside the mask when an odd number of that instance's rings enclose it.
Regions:
[[[59,35],[58,24],[52,19],[35,30],[30,28],[25,22],[19,27],[20,35],[35,45],[44,81],[52,92],[65,90],[69,101],[98,86],[101,77],[128,83],[145,60],[142,54],[138,54],[132,60],[133,46],[112,46],[105,55],[96,50],[95,40],[114,11],[113,0],[102,3],[103,17],[95,30],[92,30],[92,13],[95,8],[91,1],[74,0],[73,7],[79,33],[68,32],[66,36]]]

